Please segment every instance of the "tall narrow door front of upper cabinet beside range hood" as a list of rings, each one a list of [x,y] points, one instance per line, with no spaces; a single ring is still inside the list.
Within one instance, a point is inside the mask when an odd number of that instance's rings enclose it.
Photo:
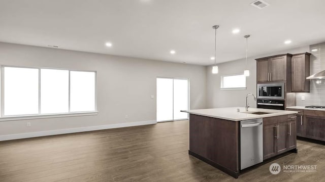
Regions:
[[[308,75],[309,76],[309,75]],[[305,91],[305,55],[297,55],[291,58],[291,78],[292,78],[292,91],[304,92]]]

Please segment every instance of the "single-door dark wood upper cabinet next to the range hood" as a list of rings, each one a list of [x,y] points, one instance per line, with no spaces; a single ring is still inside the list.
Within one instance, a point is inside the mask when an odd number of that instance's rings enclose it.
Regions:
[[[310,53],[295,54],[291,58],[291,92],[309,92]]]

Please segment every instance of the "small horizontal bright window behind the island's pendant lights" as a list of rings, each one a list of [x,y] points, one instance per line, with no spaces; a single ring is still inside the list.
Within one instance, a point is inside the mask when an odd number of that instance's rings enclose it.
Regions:
[[[246,76],[244,74],[221,76],[220,89],[246,89]]]

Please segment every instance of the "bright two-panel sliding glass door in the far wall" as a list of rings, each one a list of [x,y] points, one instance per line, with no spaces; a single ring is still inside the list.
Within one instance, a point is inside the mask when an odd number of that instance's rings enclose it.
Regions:
[[[157,122],[188,119],[188,79],[157,78]]]

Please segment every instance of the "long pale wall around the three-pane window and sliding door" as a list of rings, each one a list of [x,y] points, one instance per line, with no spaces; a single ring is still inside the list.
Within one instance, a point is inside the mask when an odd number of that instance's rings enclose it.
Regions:
[[[98,115],[0,122],[0,135],[156,120],[156,77],[190,80],[190,109],[206,108],[206,67],[0,42],[0,64],[97,71]],[[125,119],[128,115],[128,119]],[[31,127],[26,127],[26,122]],[[50,132],[49,132],[50,133]]]

